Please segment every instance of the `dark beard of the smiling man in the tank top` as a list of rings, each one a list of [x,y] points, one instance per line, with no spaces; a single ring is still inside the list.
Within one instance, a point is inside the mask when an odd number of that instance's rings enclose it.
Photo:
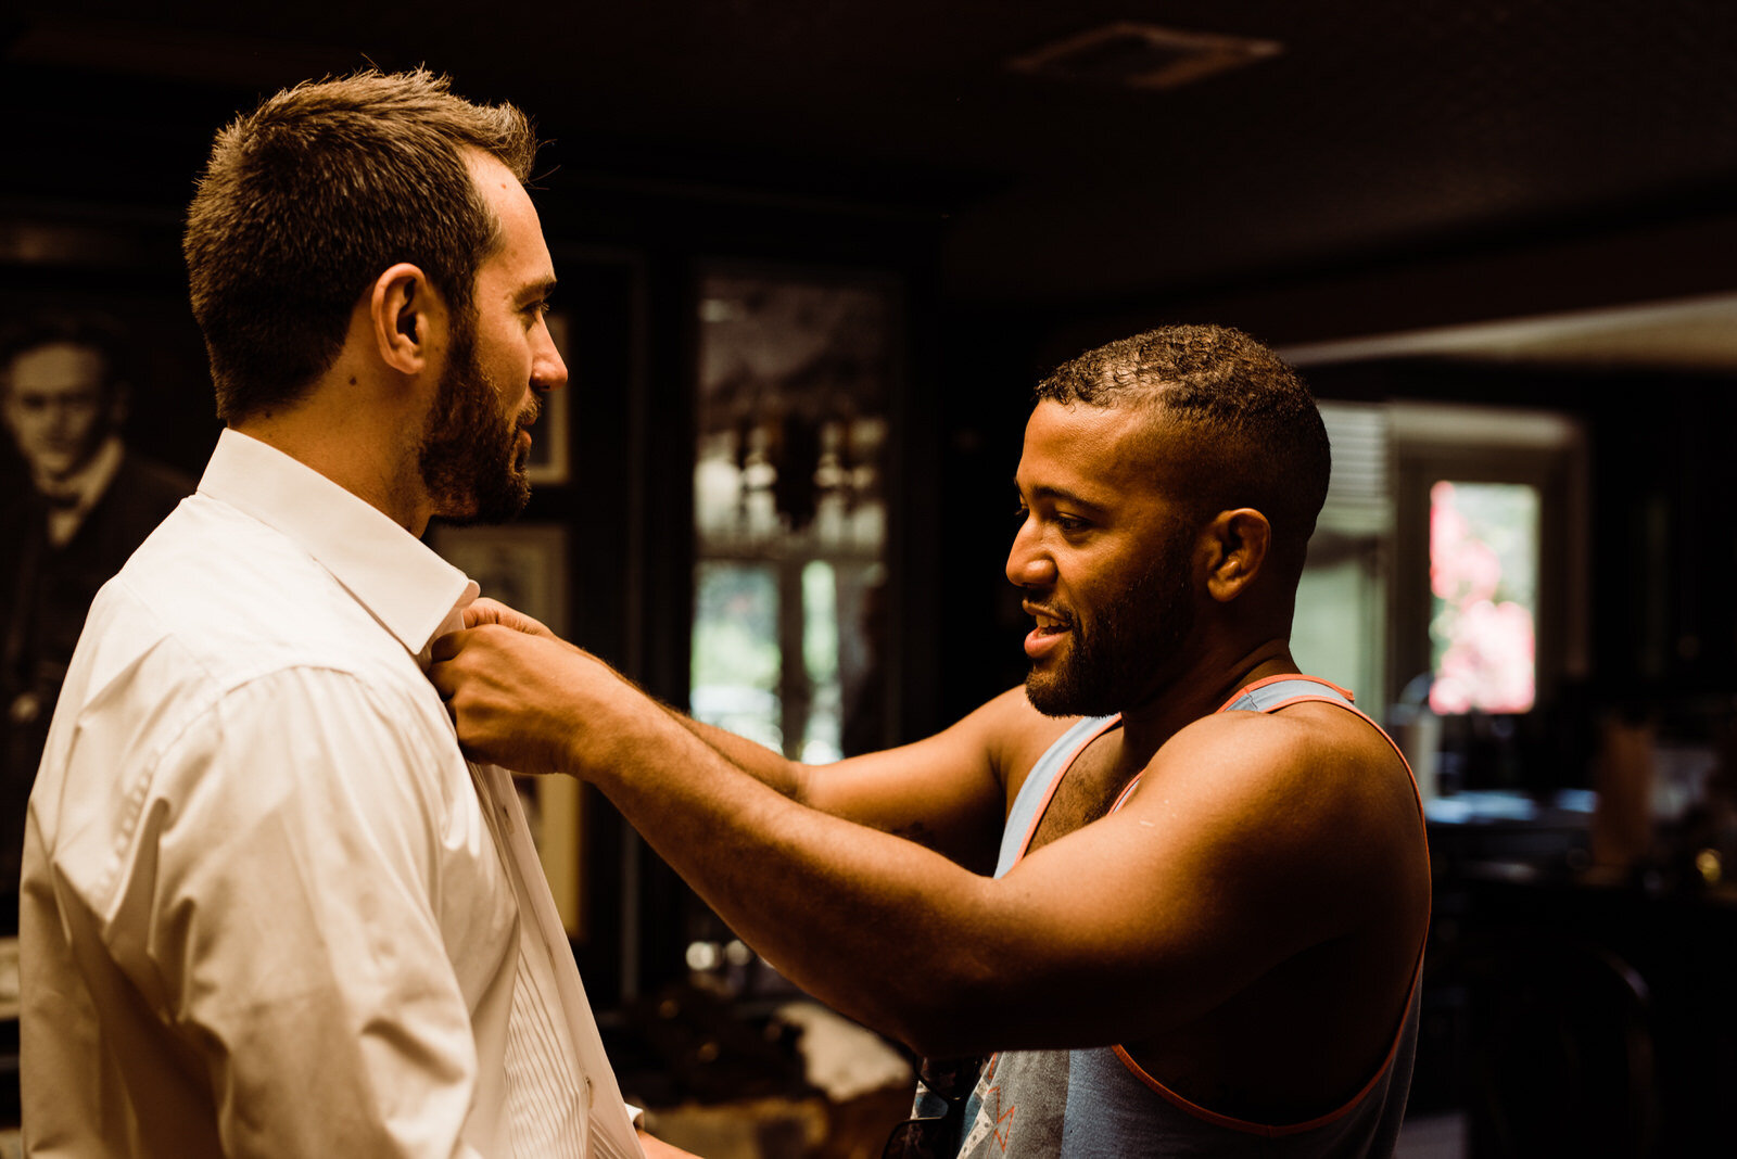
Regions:
[[[1046,717],[1110,717],[1139,699],[1176,661],[1193,632],[1192,536],[1167,538],[1127,590],[1105,600],[1096,621],[1068,625],[1068,654],[1051,670],[1034,665],[1025,696]]]

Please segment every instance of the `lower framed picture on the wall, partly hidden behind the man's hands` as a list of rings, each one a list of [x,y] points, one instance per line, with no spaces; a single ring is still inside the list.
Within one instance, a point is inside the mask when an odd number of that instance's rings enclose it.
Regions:
[[[471,576],[483,595],[511,604],[561,635],[568,632],[566,541],[561,524],[438,526],[431,536],[434,550]],[[519,777],[518,786],[561,925],[568,937],[584,937],[584,796],[578,781]]]

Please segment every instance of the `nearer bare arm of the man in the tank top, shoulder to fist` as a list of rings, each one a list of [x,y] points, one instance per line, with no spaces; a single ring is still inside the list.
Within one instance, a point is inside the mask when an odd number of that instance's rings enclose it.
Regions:
[[[1294,722],[1216,718],[1179,734],[1124,810],[992,880],[782,796],[596,663],[499,630],[438,656],[472,751],[538,737],[533,770],[594,781],[792,980],[926,1053],[1126,1041],[1199,1017],[1367,923],[1388,888],[1370,871],[1388,864],[1383,833],[1403,819],[1391,793],[1339,793],[1360,770],[1303,760]]]

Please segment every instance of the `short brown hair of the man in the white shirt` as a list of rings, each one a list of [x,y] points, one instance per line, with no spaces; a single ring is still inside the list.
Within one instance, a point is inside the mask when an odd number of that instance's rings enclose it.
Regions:
[[[217,416],[295,403],[344,345],[361,291],[413,262],[455,314],[500,224],[460,149],[530,179],[537,139],[426,69],[304,82],[217,134],[182,252]]]

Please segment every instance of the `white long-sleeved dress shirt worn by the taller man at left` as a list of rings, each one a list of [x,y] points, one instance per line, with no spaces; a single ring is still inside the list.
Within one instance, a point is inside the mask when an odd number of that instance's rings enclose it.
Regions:
[[[30,798],[30,1154],[639,1156],[511,779],[420,670],[474,595],[222,434],[92,604]]]

